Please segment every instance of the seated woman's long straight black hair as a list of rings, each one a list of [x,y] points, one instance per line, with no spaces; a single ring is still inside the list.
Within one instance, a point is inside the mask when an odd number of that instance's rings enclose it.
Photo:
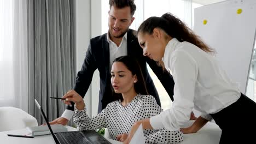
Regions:
[[[147,90],[146,83],[141,71],[141,66],[139,65],[136,58],[132,56],[121,56],[121,57],[115,58],[113,63],[115,62],[123,63],[125,67],[131,71],[132,75],[137,76],[137,82],[134,84],[135,92],[143,95],[148,95],[148,90]],[[112,87],[112,90],[113,90],[113,87]],[[120,99],[121,101],[123,101],[123,96],[121,94],[115,93],[114,90],[113,90],[113,95],[117,100]]]

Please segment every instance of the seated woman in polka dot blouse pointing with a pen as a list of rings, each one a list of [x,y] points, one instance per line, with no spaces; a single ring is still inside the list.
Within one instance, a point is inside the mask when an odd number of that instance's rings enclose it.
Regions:
[[[119,100],[109,103],[95,117],[88,117],[83,98],[79,94],[65,95],[65,103],[75,103],[74,123],[78,130],[108,128],[111,139],[124,141],[132,124],[144,118],[159,115],[161,107],[148,95],[141,68],[130,56],[116,58],[111,70],[111,83]],[[178,143],[183,141],[181,131],[144,130],[146,143]]]

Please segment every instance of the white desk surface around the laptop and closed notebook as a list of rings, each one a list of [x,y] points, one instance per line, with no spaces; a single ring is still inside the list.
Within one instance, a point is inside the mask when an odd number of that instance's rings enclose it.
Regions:
[[[68,131],[75,131],[77,129],[66,126],[68,128]],[[26,143],[26,144],[51,144],[55,143],[53,136],[51,135],[42,135],[42,136],[34,136],[34,138],[25,138],[25,137],[13,137],[13,136],[7,136],[7,134],[15,134],[15,135],[26,135],[29,134],[29,132],[26,129],[19,129],[19,130],[11,130],[11,131],[2,131],[0,132],[0,140],[1,143],[8,143],[8,144],[16,144],[16,143]],[[111,140],[106,138],[109,142],[113,144],[121,144],[119,141]]]

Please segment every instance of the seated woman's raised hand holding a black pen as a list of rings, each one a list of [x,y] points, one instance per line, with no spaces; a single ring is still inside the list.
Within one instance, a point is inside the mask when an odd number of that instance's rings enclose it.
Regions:
[[[66,105],[71,105],[71,101],[73,101],[75,103],[75,107],[77,107],[78,110],[84,109],[84,99],[73,89],[68,91],[62,98],[65,99],[64,103]]]

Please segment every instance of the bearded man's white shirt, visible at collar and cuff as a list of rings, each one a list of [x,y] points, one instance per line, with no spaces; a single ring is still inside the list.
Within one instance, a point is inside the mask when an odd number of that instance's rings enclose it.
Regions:
[[[107,33],[107,41],[109,43],[109,69],[111,70],[112,63],[115,58],[118,58],[120,56],[127,56],[127,32],[125,33],[121,43],[119,46],[115,44],[109,37],[109,33]],[[74,111],[71,110],[65,110],[61,117],[66,119],[71,119],[71,117],[74,115]]]

